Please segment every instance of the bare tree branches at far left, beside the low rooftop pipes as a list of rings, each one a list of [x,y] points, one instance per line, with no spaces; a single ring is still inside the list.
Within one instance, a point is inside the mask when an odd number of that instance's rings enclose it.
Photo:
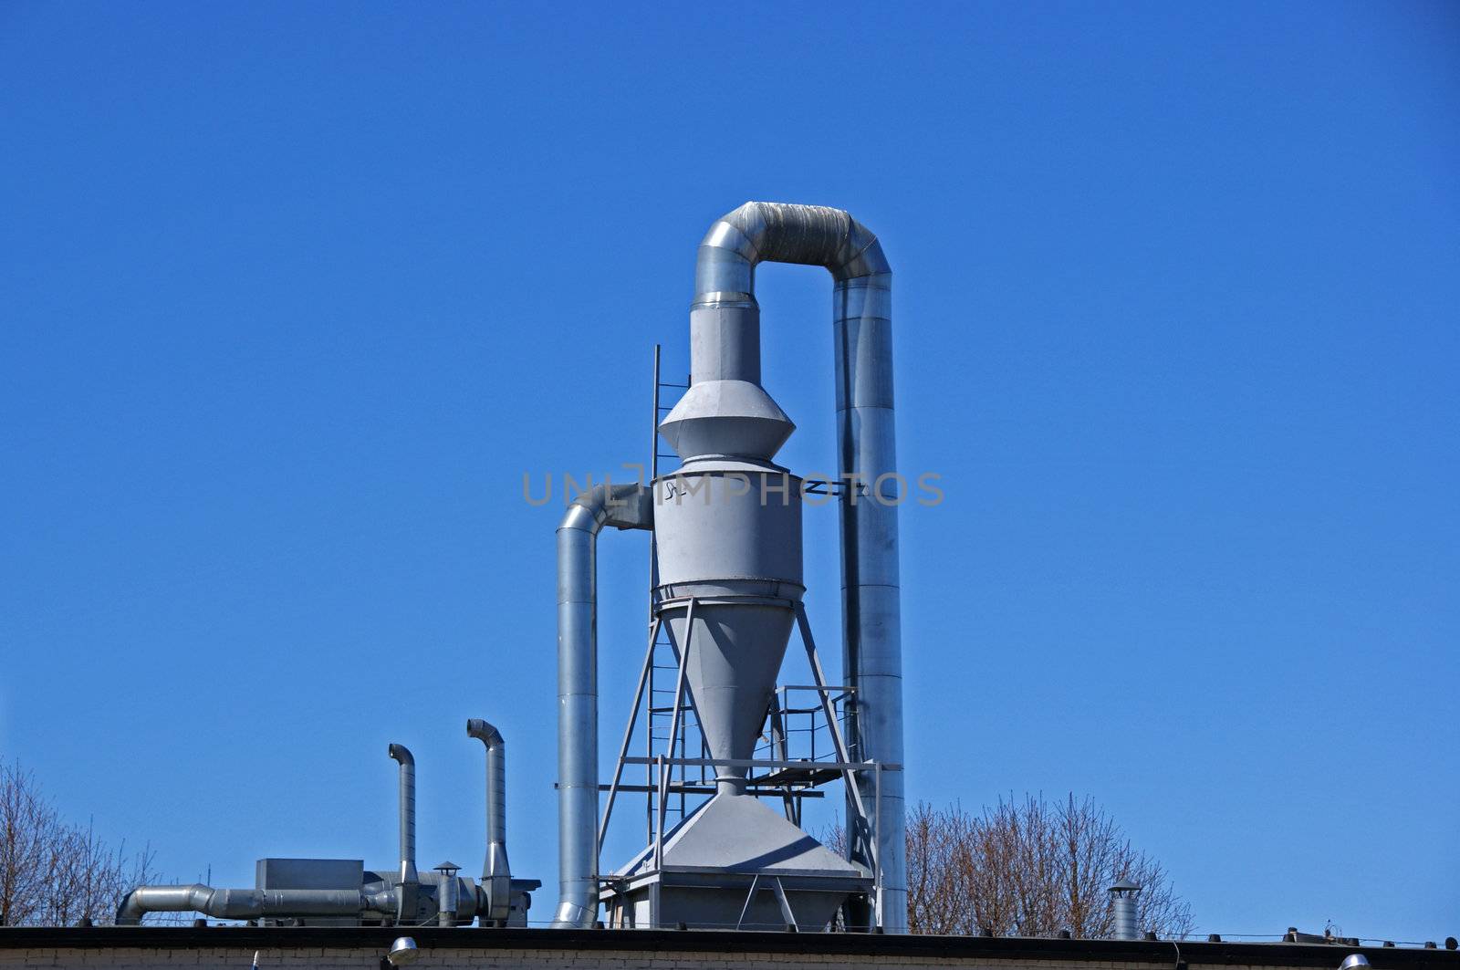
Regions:
[[[110,923],[150,868],[149,850],[128,856],[89,822],[63,822],[29,771],[0,764],[0,926]]]

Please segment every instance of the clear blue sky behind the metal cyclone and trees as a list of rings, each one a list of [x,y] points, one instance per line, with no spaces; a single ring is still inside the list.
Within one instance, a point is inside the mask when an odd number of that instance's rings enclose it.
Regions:
[[[699,237],[812,202],[885,242],[948,494],[902,516],[911,796],[1091,795],[1203,931],[1460,933],[1457,159],[1454,3],[0,6],[0,754],[250,885],[388,860],[400,741],[470,872],[488,717],[546,916],[521,476],[642,460]],[[761,298],[829,467],[828,278]]]

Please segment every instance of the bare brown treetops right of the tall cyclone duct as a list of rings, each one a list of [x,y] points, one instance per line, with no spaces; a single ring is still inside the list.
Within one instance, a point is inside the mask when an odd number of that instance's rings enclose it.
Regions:
[[[845,837],[828,837],[834,849]],[[1165,869],[1136,850],[1091,799],[1050,803],[1042,796],[999,799],[980,814],[959,805],[918,803],[907,820],[908,928],[914,933],[1077,938],[1114,932],[1108,887],[1143,887],[1142,931],[1191,932],[1191,909]]]

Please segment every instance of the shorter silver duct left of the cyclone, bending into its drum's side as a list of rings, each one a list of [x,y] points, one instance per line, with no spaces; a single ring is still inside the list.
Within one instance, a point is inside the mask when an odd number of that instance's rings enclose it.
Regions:
[[[593,926],[599,906],[599,530],[653,514],[647,488],[599,485],[558,526],[558,928]]]

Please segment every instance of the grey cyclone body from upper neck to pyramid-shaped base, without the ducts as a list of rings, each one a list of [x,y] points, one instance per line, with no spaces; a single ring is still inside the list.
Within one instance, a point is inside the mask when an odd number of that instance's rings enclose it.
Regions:
[[[660,425],[682,467],[654,482],[656,614],[715,795],[607,879],[616,926],[821,929],[873,882],[746,795],[804,586],[802,479],[771,460],[796,425],[761,387],[759,308],[733,297],[691,311],[692,384]]]

